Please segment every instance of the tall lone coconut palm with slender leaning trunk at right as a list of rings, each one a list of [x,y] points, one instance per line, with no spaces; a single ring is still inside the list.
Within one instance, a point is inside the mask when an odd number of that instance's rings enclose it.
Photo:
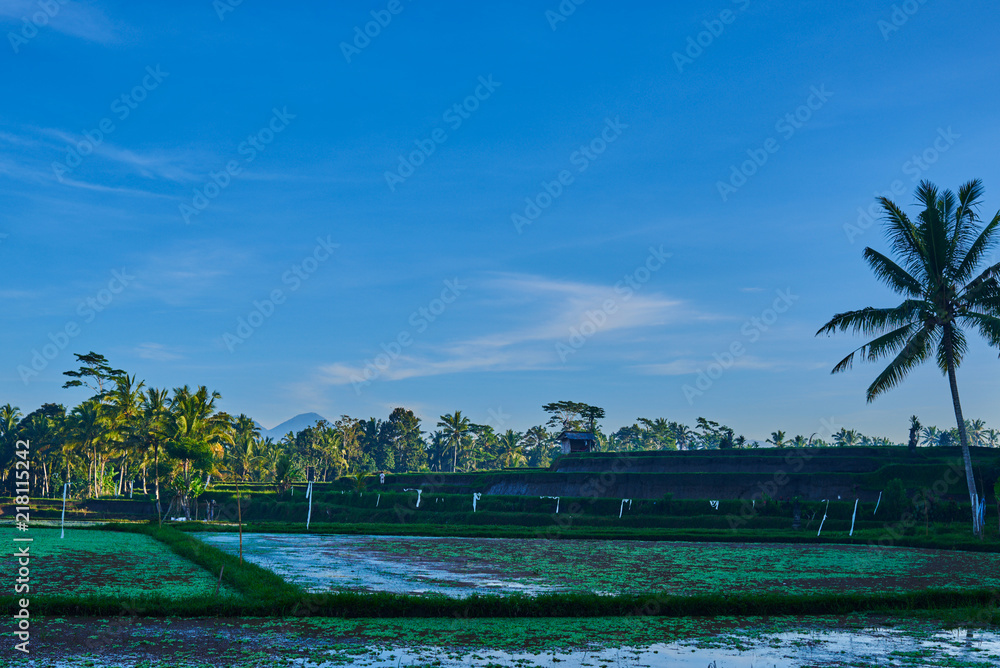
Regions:
[[[968,347],[963,326],[978,330],[990,345],[1000,345],[1000,263],[977,274],[983,258],[997,242],[994,235],[1000,225],[1000,211],[980,228],[982,194],[983,184],[978,179],[959,188],[957,197],[950,190],[939,192],[932,183],[921,181],[916,198],[923,210],[916,223],[892,201],[879,198],[892,251],[899,262],[871,248],[865,248],[864,257],[876,277],[905,299],[895,307],[839,313],[817,332],[852,330],[865,336],[877,335],[841,360],[833,373],[851,368],[856,354],[871,362],[893,356],[868,387],[869,402],[899,384],[921,362],[932,355],[936,358],[951,388],[973,505],[973,532],[977,535],[981,531],[975,512],[978,494],[955,370]]]

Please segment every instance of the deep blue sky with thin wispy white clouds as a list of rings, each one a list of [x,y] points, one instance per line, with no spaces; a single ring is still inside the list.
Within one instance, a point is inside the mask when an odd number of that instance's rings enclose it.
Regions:
[[[935,369],[866,404],[879,369],[829,373],[862,341],[813,335],[897,301],[861,258],[876,194],[979,177],[1000,208],[998,19],[0,2],[0,403],[78,402],[62,372],[95,350],[268,427],[524,429],[562,399],[761,439],[951,425]],[[994,426],[998,364],[976,340],[959,371]]]

